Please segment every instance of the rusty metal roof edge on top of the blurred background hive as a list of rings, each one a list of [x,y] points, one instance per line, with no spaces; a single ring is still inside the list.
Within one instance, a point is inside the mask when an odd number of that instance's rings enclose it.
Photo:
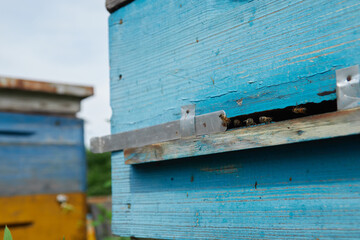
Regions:
[[[94,94],[93,87],[70,85],[53,82],[40,82],[33,80],[24,80],[18,78],[9,78],[0,76],[0,90],[12,89],[27,92],[41,92],[55,95],[66,95],[79,98],[86,98]]]

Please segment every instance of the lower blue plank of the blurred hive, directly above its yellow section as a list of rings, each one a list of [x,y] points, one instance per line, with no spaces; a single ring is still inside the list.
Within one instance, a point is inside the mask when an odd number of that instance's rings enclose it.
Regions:
[[[74,146],[0,146],[0,196],[85,192],[84,152]]]

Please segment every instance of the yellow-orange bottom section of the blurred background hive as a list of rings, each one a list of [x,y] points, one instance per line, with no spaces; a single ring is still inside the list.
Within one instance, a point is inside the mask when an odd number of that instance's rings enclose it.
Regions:
[[[1,197],[0,235],[4,226],[16,239],[86,239],[86,196],[69,193],[68,208],[57,202],[57,194]],[[69,207],[70,206],[70,207]]]

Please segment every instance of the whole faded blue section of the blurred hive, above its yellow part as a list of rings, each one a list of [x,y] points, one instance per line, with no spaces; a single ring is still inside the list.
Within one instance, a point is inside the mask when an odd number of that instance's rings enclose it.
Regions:
[[[84,192],[83,121],[0,113],[0,196]]]

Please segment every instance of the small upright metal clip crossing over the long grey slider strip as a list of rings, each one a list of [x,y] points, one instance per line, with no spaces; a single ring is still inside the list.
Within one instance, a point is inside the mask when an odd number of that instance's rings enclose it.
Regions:
[[[180,135],[181,137],[195,135],[195,105],[181,107]]]

